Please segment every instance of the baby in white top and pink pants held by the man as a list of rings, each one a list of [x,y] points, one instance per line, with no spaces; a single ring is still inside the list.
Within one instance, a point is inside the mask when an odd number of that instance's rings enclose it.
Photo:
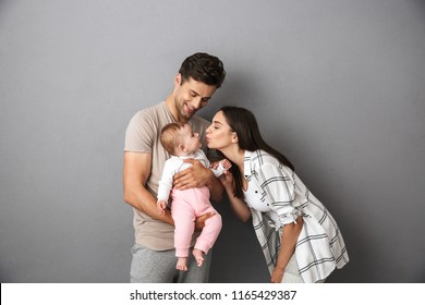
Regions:
[[[163,213],[168,198],[171,193],[171,217],[174,220],[174,247],[178,263],[178,270],[187,270],[189,248],[192,234],[195,229],[195,219],[204,213],[214,211],[215,215],[205,221],[205,227],[196,240],[192,252],[197,266],[204,261],[204,254],[212,247],[221,230],[221,216],[214,209],[209,202],[209,190],[207,186],[189,188],[184,191],[172,190],[173,176],[175,173],[191,167],[184,159],[199,160],[206,168],[210,163],[201,149],[199,136],[192,131],[192,127],[183,123],[167,124],[160,136],[161,144],[172,155],[165,163],[162,176],[158,187],[158,210]],[[229,160],[223,159],[214,168],[210,168],[216,176],[220,176],[224,170],[231,167]],[[217,169],[215,169],[217,168]]]

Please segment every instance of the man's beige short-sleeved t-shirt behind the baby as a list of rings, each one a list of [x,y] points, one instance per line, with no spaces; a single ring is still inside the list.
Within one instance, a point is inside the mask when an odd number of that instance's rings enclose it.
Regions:
[[[159,136],[161,129],[168,123],[175,122],[166,102],[138,111],[130,121],[125,132],[124,151],[150,154],[151,172],[146,182],[146,188],[157,197],[158,182],[162,174],[166,160],[171,156],[163,149]],[[199,133],[202,149],[208,154],[205,142],[205,131],[209,122],[194,115],[189,121],[194,132]],[[171,249],[174,247],[174,227],[156,220],[146,213],[133,208],[133,225],[135,242],[155,251]],[[195,234],[196,235],[196,234]],[[195,237],[195,236],[194,236]]]

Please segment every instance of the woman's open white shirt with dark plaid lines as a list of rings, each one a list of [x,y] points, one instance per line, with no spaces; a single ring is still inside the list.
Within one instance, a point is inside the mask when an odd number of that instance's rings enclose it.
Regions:
[[[326,279],[349,261],[337,222],[290,168],[264,150],[245,151],[244,173],[248,181],[245,202],[270,274],[278,259],[282,227],[300,216],[304,223],[295,257],[304,282]]]

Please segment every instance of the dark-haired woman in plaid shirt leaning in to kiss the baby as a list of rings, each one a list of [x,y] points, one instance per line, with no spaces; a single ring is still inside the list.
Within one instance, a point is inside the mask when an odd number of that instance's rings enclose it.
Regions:
[[[238,217],[252,217],[271,282],[324,282],[349,261],[337,222],[263,139],[251,111],[221,108],[206,138],[232,162],[220,181]]]

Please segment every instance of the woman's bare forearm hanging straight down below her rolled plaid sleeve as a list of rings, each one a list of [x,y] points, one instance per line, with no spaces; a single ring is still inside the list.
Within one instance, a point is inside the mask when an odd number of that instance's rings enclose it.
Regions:
[[[296,223],[288,223],[283,225],[281,245],[278,256],[278,261],[276,264],[275,270],[271,274],[272,283],[281,283],[283,279],[284,268],[288,265],[288,261],[291,259],[291,256],[295,252],[296,241],[303,229],[303,218],[299,217]]]

